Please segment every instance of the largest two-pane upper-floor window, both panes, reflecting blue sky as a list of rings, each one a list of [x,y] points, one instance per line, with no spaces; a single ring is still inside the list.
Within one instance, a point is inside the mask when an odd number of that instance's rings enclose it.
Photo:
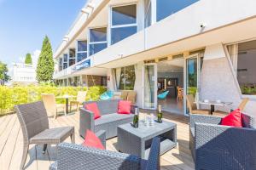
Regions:
[[[137,5],[113,7],[111,11],[111,44],[137,32]]]

